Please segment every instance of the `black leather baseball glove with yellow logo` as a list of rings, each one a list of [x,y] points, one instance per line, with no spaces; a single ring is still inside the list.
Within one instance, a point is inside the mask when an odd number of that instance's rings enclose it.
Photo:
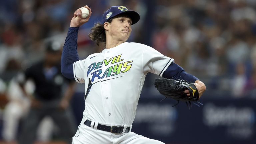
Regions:
[[[165,96],[164,99],[172,98],[177,100],[178,103],[179,101],[184,101],[186,102],[189,109],[192,107],[191,102],[197,102],[201,104],[200,102],[198,102],[199,93],[194,83],[188,83],[186,80],[177,81],[167,78],[156,78],[154,85],[160,92],[160,94]],[[190,96],[187,96],[187,94],[184,93],[185,90],[189,90]],[[177,104],[173,106],[176,106]],[[194,104],[199,106],[196,103]]]

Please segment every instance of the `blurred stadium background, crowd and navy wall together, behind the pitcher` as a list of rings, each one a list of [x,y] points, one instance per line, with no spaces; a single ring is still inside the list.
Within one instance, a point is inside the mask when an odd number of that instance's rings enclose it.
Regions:
[[[152,46],[206,84],[204,106],[188,110],[182,103],[171,107],[172,100],[160,102],[157,76],[148,74],[134,132],[169,144],[255,142],[255,0],[0,1],[1,93],[18,71],[43,57],[47,40],[64,42],[73,12],[84,5],[92,16],[79,30],[80,59],[103,49],[88,39],[93,24],[110,6],[124,5],[141,15],[128,42]],[[83,93],[77,85],[71,103],[77,124]],[[4,104],[1,99],[1,111]]]

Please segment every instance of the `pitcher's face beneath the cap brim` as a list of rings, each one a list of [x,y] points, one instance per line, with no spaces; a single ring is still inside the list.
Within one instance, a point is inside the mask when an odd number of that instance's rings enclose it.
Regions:
[[[132,32],[131,24],[132,20],[126,15],[114,17],[109,24],[110,35],[119,41],[126,41]]]

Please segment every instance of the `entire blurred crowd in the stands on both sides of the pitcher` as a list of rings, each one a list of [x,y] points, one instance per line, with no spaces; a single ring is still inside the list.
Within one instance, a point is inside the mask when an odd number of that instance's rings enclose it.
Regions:
[[[128,42],[174,58],[206,84],[209,97],[256,98],[255,0],[8,0],[0,1],[1,109],[11,100],[13,77],[44,57],[48,41],[64,44],[84,5],[92,16],[79,29],[80,59],[104,49],[89,40],[90,28],[110,6],[124,5],[141,16]]]

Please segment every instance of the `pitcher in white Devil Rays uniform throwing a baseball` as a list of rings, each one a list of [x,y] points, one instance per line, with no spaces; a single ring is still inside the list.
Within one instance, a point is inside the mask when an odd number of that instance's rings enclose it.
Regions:
[[[199,96],[205,91],[203,82],[184,71],[155,49],[128,43],[132,25],[140,16],[124,6],[113,6],[104,14],[101,22],[91,29],[89,37],[99,45],[105,43],[101,53],[79,60],[77,35],[79,26],[88,22],[81,17],[81,10],[74,12],[63,47],[62,74],[85,83],[85,110],[74,137],[73,144],[160,144],[131,132],[143,83],[148,72],[164,78],[182,78],[194,82]],[[189,95],[188,90],[184,92]]]

